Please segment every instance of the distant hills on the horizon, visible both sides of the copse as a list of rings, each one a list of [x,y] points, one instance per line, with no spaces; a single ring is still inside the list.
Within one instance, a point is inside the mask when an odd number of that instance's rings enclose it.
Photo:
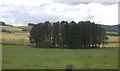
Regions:
[[[28,26],[12,26],[12,25],[6,25],[4,22],[0,21],[0,26],[2,26],[0,29],[1,31],[10,31],[10,32],[29,32],[31,28],[35,24],[33,23],[28,23]],[[118,35],[120,33],[120,25],[100,25],[105,29],[108,35]]]

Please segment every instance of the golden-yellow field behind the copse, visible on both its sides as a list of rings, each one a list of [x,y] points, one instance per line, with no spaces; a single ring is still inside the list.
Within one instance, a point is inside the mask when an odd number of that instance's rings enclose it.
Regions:
[[[108,36],[109,44],[106,47],[119,47],[118,36]],[[29,32],[25,33],[2,33],[2,43],[7,45],[30,45]]]

